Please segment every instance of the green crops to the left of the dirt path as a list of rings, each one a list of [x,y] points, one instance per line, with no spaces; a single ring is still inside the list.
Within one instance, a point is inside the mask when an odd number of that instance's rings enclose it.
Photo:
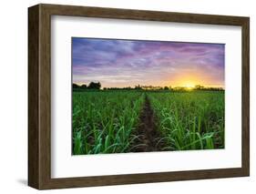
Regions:
[[[74,92],[73,154],[129,152],[144,100],[140,92]]]

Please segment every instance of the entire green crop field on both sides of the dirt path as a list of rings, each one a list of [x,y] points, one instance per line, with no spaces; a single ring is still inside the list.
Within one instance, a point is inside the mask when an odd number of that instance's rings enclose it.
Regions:
[[[126,153],[148,96],[162,150],[224,148],[223,91],[73,92],[73,154]]]

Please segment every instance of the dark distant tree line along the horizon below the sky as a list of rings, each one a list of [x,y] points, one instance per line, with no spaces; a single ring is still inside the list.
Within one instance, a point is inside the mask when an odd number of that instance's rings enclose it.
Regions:
[[[87,86],[86,84],[83,84],[81,86],[77,84],[73,84],[74,90],[84,90],[84,89],[100,89],[101,84],[100,82],[90,82]],[[153,86],[140,86],[137,85],[135,87],[103,87],[103,90],[152,90],[152,91],[188,91],[188,90],[196,90],[196,91],[224,91],[222,87],[203,87],[200,85],[197,85],[195,87],[153,87]]]

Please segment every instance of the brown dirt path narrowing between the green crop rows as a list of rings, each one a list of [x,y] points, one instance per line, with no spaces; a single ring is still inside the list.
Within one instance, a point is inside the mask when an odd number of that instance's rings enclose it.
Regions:
[[[160,134],[157,130],[156,117],[154,117],[153,109],[150,106],[148,96],[145,97],[145,105],[140,114],[140,124],[136,135],[139,137],[135,141],[133,152],[160,151],[162,145],[157,145]],[[139,146],[138,146],[139,145]]]

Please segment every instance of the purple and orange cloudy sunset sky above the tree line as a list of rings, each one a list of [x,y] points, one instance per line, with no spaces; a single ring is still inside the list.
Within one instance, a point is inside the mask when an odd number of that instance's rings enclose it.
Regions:
[[[223,44],[72,38],[73,83],[224,87]]]

